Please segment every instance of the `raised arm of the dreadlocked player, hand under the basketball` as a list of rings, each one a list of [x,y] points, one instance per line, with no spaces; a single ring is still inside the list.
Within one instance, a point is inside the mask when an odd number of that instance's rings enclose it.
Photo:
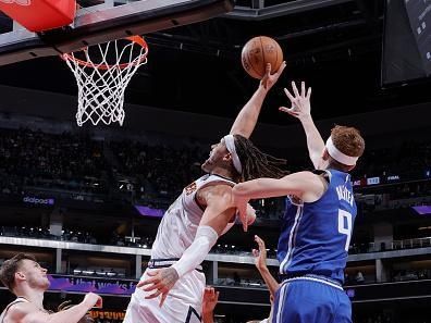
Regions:
[[[255,129],[257,120],[260,114],[260,109],[262,108],[263,100],[267,97],[268,91],[276,83],[283,70],[286,67],[286,63],[283,62],[274,74],[271,74],[271,64],[267,65],[267,74],[263,76],[259,84],[258,89],[253,95],[250,100],[244,105],[239,111],[236,120],[231,128],[231,135],[242,135],[246,138],[251,136]]]

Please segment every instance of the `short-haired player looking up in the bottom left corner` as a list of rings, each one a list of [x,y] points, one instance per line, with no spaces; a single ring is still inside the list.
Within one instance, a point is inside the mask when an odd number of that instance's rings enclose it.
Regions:
[[[100,296],[89,293],[84,300],[61,312],[44,309],[44,294],[49,287],[47,270],[30,254],[19,253],[4,261],[0,281],[16,299],[0,315],[0,323],[77,323],[87,311],[101,306]]]

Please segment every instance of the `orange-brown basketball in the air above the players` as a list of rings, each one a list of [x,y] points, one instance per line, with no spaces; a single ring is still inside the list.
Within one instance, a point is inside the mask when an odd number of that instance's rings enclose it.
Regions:
[[[251,77],[261,79],[268,63],[271,63],[271,74],[279,71],[283,62],[283,51],[274,39],[259,36],[251,38],[243,47],[241,61]]]

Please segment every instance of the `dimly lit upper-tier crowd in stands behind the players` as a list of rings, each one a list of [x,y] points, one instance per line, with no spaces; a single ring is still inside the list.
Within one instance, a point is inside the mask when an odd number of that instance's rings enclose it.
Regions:
[[[167,208],[183,187],[202,174],[200,164],[208,152],[209,147],[197,144],[174,147],[136,140],[104,142],[89,135],[3,128],[0,129],[0,192],[19,194],[29,187],[82,194],[108,194],[116,189],[130,194],[132,201]],[[290,167],[301,169],[292,163]],[[396,175],[408,182],[410,177],[417,178],[418,172],[427,179],[427,170],[431,171],[431,141],[418,140],[397,148],[367,149],[353,178]],[[369,200],[360,203],[366,210],[374,210],[379,206],[387,207],[387,200],[430,196],[431,174],[426,182],[384,187],[384,194],[374,194],[372,203]],[[284,203],[282,199],[273,199],[257,201],[254,207],[258,216],[276,219]]]

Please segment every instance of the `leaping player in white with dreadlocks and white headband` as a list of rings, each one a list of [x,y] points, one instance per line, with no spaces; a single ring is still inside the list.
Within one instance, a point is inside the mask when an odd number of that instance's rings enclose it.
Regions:
[[[200,322],[205,275],[200,263],[235,220],[235,183],[262,175],[281,177],[285,161],[258,150],[250,137],[263,99],[285,67],[270,74],[237,115],[230,135],[211,146],[202,170],[208,174],[184,188],[164,213],[151,259],[132,295],[124,323]],[[249,209],[249,212],[253,210]]]

